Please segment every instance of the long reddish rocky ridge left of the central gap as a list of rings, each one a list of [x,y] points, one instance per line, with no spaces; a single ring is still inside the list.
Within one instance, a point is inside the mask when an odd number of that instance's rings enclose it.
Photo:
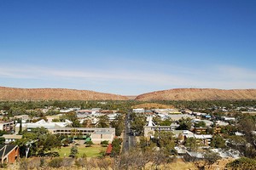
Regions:
[[[66,88],[0,87],[0,100],[126,100],[125,96]]]

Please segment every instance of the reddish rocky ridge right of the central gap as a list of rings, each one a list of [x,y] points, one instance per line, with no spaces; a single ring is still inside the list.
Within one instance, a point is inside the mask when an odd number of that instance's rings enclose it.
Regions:
[[[136,100],[256,99],[256,89],[175,88],[138,95]]]

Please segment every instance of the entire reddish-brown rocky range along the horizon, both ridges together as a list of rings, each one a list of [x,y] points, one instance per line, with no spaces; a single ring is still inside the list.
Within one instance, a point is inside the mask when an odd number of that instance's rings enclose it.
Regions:
[[[5,88],[0,87],[1,100],[215,100],[215,99],[256,99],[256,89],[215,89],[215,88],[175,88],[122,96],[89,90],[67,88]]]

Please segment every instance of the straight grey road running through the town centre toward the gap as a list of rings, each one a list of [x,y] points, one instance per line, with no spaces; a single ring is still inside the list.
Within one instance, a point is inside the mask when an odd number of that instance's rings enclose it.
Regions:
[[[136,137],[131,135],[130,127],[131,120],[129,120],[130,113],[125,116],[125,133],[124,133],[124,142],[123,142],[123,152],[130,150],[135,147],[137,144]]]

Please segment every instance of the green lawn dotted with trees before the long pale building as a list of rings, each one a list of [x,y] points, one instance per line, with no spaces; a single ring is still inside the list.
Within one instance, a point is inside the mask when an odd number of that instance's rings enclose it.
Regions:
[[[60,157],[64,157],[66,154],[66,157],[69,156],[70,154],[70,149],[71,146],[67,146],[67,147],[61,147],[60,150],[55,149],[52,151],[57,151],[60,154]],[[86,154],[87,157],[97,157],[97,156],[101,156],[101,152],[102,151],[106,151],[107,148],[102,147],[100,145],[92,145],[91,147],[85,147],[83,146],[78,146],[78,150],[79,150],[79,157],[83,156],[83,154]]]

